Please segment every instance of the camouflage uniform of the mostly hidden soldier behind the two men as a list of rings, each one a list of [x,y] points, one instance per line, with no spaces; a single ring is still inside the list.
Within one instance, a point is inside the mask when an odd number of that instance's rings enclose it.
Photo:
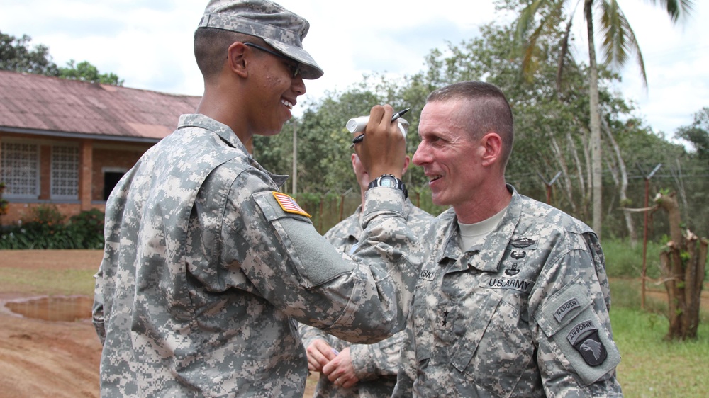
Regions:
[[[420,236],[430,227],[433,217],[415,207],[408,199],[406,208],[408,210],[406,224],[416,236]],[[325,239],[345,253],[354,251],[356,249],[354,245],[362,234],[360,215],[362,215],[362,206],[357,207],[350,217],[330,228],[325,234]],[[313,326],[299,324],[298,328],[301,331],[303,345],[306,347],[316,339],[327,341],[337,351],[350,347],[354,374],[359,379],[353,387],[342,388],[330,382],[328,377],[320,375],[314,397],[389,397],[391,395],[396,385],[401,347],[407,337],[405,332],[400,331],[389,339],[375,344],[350,344]]]

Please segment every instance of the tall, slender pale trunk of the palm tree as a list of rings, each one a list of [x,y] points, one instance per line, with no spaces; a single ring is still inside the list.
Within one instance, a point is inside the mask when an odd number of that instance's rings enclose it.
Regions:
[[[601,227],[603,219],[603,207],[601,201],[603,178],[603,155],[601,154],[601,115],[598,108],[598,65],[596,64],[596,47],[593,36],[593,0],[584,2],[584,15],[586,16],[586,28],[588,34],[588,65],[589,65],[589,81],[588,81],[588,99],[590,106],[591,117],[591,169],[593,192],[591,195],[593,209],[593,223],[591,227],[598,234],[598,239],[601,239]]]

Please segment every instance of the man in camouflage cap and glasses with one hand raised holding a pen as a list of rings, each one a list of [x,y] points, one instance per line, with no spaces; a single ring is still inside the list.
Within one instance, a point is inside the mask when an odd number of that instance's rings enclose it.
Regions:
[[[303,50],[307,32],[270,1],[206,7],[194,37],[197,113],[106,203],[94,301],[102,396],[300,398],[308,370],[295,320],[370,343],[405,323],[417,268],[401,250],[415,244],[403,189],[369,190],[355,261],[247,150],[254,135],[278,134],[303,79],[323,74]],[[392,113],[372,108],[357,150],[373,175],[401,178]]]

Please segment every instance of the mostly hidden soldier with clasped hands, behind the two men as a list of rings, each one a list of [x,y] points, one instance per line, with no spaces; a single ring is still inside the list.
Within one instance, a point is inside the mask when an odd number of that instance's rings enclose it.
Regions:
[[[408,129],[406,120],[398,119],[404,130]],[[406,172],[409,161],[406,156],[402,174]],[[359,183],[359,193],[364,203],[364,196],[370,178],[359,161],[357,154],[352,154],[352,169]],[[411,200],[406,200],[408,218],[406,223],[418,236],[428,228],[432,217],[427,212],[415,207]],[[333,246],[345,253],[354,253],[362,234],[362,205],[354,214],[339,222],[325,234]],[[303,344],[308,353],[308,370],[320,372],[314,397],[389,397],[396,385],[396,372],[401,362],[401,346],[406,333],[401,331],[376,344],[350,344],[337,339],[313,326],[299,325]]]

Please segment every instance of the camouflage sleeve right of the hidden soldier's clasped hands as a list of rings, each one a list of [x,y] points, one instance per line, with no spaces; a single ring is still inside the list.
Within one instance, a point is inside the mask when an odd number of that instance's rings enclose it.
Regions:
[[[354,374],[359,380],[373,380],[381,376],[395,377],[401,361],[401,346],[405,340],[406,331],[400,331],[376,344],[350,346]]]

